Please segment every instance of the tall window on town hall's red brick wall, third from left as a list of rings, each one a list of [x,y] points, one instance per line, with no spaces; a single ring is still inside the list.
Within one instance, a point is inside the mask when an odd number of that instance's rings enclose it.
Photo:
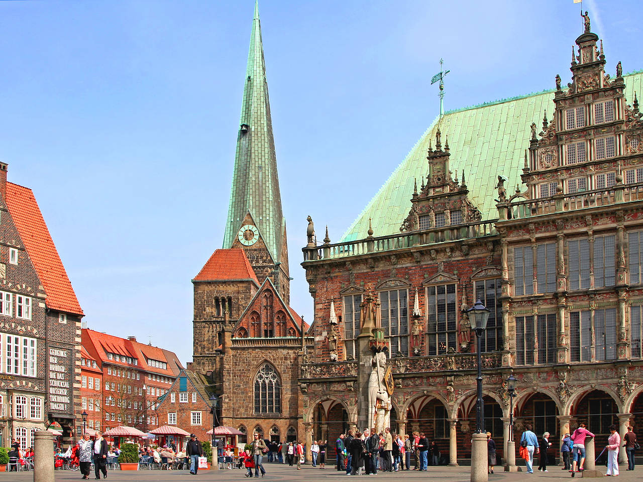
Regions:
[[[456,344],[455,284],[431,286],[426,289],[428,312],[429,355],[442,355]]]

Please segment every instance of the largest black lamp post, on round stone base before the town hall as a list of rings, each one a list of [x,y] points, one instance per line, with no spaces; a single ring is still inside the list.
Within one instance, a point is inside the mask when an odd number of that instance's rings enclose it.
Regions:
[[[487,435],[484,430],[484,413],[482,411],[482,335],[487,327],[489,310],[478,299],[473,307],[467,310],[471,329],[476,332],[476,359],[478,378],[476,379],[476,431],[471,437],[471,482],[487,482]]]

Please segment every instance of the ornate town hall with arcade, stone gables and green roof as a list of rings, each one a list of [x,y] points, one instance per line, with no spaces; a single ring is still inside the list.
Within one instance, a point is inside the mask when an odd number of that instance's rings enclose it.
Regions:
[[[309,224],[309,440],[372,425],[374,406],[449,463],[469,458],[476,299],[491,310],[484,413],[498,447],[512,372],[515,431],[552,433],[552,456],[579,421],[597,446],[610,424],[643,422],[643,75],[606,73],[588,18],[575,44],[566,88],[556,75],[554,91],[437,120],[340,242],[317,244]],[[381,352],[388,407],[369,393]]]

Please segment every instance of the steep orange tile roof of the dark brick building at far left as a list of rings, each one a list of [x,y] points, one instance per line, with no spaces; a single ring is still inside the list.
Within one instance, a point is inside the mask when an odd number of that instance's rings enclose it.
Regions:
[[[82,308],[32,190],[6,183],[5,201],[47,294],[47,307],[82,316]]]

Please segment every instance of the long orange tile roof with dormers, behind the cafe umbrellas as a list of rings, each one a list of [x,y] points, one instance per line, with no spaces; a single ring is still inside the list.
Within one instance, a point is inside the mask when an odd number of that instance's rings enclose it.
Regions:
[[[157,346],[138,343],[138,341],[96,332],[87,328],[82,330],[82,344],[87,348],[87,352],[95,353],[101,363],[107,362],[122,366],[131,366],[127,364],[127,362],[107,358],[107,353],[109,352],[116,355],[124,355],[125,357],[132,357],[138,361],[136,366],[140,368],[140,370],[152,371],[159,375],[165,375],[166,377],[176,377],[177,370],[173,370],[175,366],[177,366],[179,370],[183,368],[174,352],[163,350]],[[148,359],[164,362],[167,364],[167,368],[163,369],[150,366],[147,364]]]

